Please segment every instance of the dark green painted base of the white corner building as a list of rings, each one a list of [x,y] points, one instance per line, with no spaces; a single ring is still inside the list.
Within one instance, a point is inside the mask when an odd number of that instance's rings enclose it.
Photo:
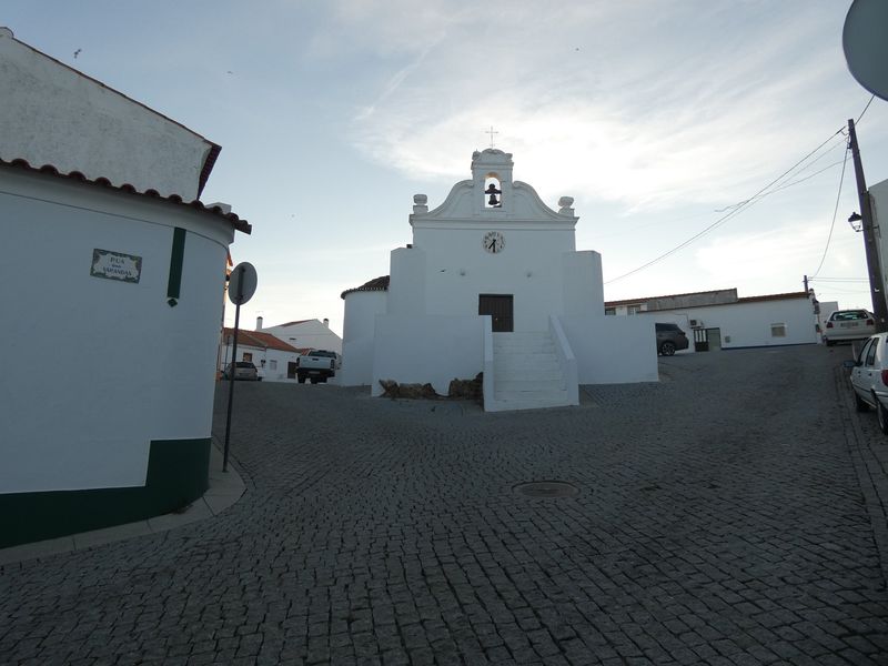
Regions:
[[[143,521],[206,492],[210,438],[151,442],[142,487],[0,495],[0,548]]]

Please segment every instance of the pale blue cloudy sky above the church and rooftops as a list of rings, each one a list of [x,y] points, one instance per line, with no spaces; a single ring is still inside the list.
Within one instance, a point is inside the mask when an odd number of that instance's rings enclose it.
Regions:
[[[867,183],[888,179],[888,102],[848,72],[849,6],[3,0],[0,26],[222,147],[201,199],[253,225],[231,248],[259,274],[242,327],[341,334],[341,292],[389,273],[413,195],[442,203],[491,128],[515,180],[574,198],[606,300],[807,274],[871,307],[842,128],[859,118]]]

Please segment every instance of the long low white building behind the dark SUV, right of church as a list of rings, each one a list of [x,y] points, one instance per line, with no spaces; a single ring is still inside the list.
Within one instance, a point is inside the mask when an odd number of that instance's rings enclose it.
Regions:
[[[726,289],[605,303],[607,314],[678,324],[689,352],[817,343],[818,310],[813,291],[738,297]]]

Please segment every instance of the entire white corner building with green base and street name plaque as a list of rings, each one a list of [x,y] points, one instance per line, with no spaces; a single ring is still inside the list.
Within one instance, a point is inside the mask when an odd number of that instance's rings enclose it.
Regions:
[[[225,256],[219,147],[0,28],[0,547],[206,488]],[[191,203],[185,203],[185,202]]]

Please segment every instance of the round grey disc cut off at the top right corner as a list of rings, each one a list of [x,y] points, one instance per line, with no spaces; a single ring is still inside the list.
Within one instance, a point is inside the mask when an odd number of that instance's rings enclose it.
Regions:
[[[841,48],[857,82],[888,100],[888,2],[854,0],[845,17]]]

